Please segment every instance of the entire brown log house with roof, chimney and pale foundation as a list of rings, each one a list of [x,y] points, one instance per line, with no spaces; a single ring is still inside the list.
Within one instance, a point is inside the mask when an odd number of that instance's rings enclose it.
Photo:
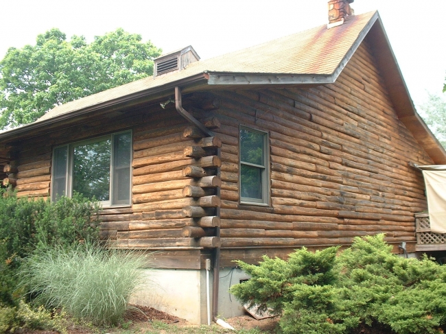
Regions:
[[[101,237],[153,255],[139,304],[191,322],[243,312],[235,263],[385,233],[416,252],[421,172],[446,152],[416,113],[379,14],[329,1],[329,24],[84,97],[0,133],[3,184],[101,201]]]

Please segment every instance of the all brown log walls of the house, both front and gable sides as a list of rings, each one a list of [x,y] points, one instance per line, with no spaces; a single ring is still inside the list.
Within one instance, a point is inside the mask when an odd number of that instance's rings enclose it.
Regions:
[[[47,197],[54,146],[132,129],[132,204],[102,215],[101,237],[117,247],[183,249],[191,257],[193,248],[221,245],[223,265],[378,232],[414,248],[414,213],[426,201],[421,173],[408,162],[432,160],[397,119],[366,43],[335,84],[213,94],[183,101],[215,136],[189,128],[172,105],[105,113],[106,121],[21,141],[3,184],[19,196]],[[239,204],[240,125],[268,132],[269,206]]]

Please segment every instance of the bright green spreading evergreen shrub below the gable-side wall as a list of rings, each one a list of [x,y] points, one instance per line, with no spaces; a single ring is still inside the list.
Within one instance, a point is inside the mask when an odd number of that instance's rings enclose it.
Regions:
[[[384,235],[355,238],[338,248],[297,250],[288,261],[239,262],[252,276],[231,293],[242,302],[281,314],[283,333],[348,333],[360,323],[390,326],[398,334],[443,333],[446,267],[431,259],[403,259]]]

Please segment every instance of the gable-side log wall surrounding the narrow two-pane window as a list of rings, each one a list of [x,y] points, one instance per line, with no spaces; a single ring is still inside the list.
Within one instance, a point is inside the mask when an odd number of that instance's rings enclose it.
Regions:
[[[427,206],[408,162],[432,160],[397,119],[366,43],[334,84],[216,95],[222,248],[344,245],[379,232],[415,241],[414,213]],[[239,124],[270,134],[269,207],[239,204]]]

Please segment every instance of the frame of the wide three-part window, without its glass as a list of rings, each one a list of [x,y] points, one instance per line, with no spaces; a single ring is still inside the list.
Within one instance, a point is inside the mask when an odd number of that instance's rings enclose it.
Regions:
[[[66,174],[65,174],[65,194],[71,198],[71,196],[73,195],[73,154],[74,154],[74,147],[79,146],[79,145],[84,145],[84,144],[89,144],[89,143],[95,143],[97,141],[101,141],[101,140],[106,140],[106,139],[110,139],[110,146],[111,146],[111,152],[110,152],[110,199],[107,201],[100,201],[102,207],[111,207],[111,206],[131,206],[132,204],[132,142],[130,143],[130,152],[128,152],[130,154],[130,186],[129,186],[129,200],[121,200],[121,201],[115,201],[113,203],[113,197],[115,196],[114,193],[114,189],[113,189],[113,178],[114,178],[114,174],[115,174],[115,169],[116,167],[113,167],[113,163],[114,163],[114,155],[115,155],[115,136],[119,135],[119,134],[125,134],[128,133],[130,134],[130,139],[132,140],[133,136],[132,136],[132,131],[131,130],[127,130],[127,131],[121,131],[121,132],[114,132],[112,134],[108,134],[106,136],[98,136],[92,139],[87,139],[85,141],[76,141],[74,143],[69,143],[66,145],[60,145],[57,147],[54,147],[53,149],[53,158],[52,158],[52,163],[51,163],[51,201],[55,201],[56,200],[56,194],[54,193],[54,189],[53,189],[53,184],[54,184],[54,171],[55,171],[55,163],[56,160],[54,159],[54,151],[61,148],[61,147],[66,147],[67,148],[67,166],[66,166]]]

